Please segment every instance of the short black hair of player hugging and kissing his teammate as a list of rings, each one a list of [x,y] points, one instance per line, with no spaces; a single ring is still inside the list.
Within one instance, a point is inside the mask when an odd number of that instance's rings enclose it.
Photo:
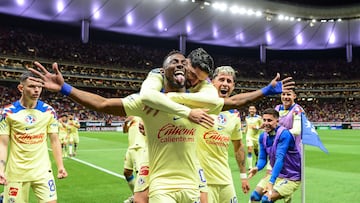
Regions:
[[[203,48],[194,49],[187,58],[190,59],[193,67],[200,68],[210,75],[213,73],[214,59]]]

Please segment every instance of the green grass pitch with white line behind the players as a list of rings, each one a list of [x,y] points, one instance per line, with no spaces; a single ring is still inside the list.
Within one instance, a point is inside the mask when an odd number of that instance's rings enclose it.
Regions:
[[[357,202],[360,130],[319,130],[318,133],[329,154],[305,146],[305,202]],[[69,176],[56,182],[58,202],[122,203],[131,194],[122,176],[126,148],[127,136],[120,132],[81,132],[77,156],[64,159]],[[229,160],[238,202],[247,203],[249,194],[241,191],[232,148]],[[263,173],[258,173],[250,180],[251,189],[262,176]],[[30,202],[37,202],[33,194]],[[292,203],[301,203],[301,189]]]

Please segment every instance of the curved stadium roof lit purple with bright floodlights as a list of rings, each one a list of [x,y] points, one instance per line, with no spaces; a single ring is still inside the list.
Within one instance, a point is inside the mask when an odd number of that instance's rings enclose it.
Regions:
[[[312,2],[312,3],[311,3]],[[360,46],[354,0],[1,0],[0,13],[131,35],[273,50]],[[90,36],[91,40],[91,36]]]

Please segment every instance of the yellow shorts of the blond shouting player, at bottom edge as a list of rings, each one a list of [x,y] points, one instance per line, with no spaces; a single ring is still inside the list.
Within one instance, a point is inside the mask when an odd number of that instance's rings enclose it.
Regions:
[[[236,192],[233,184],[208,185],[208,202],[234,202],[237,203]]]

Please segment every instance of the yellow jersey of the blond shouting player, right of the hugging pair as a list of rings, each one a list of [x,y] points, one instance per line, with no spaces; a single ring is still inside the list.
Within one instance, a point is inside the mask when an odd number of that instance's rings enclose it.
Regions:
[[[208,185],[233,184],[228,162],[229,144],[241,138],[240,113],[237,110],[222,111],[215,118],[215,125],[202,134],[197,154]]]

